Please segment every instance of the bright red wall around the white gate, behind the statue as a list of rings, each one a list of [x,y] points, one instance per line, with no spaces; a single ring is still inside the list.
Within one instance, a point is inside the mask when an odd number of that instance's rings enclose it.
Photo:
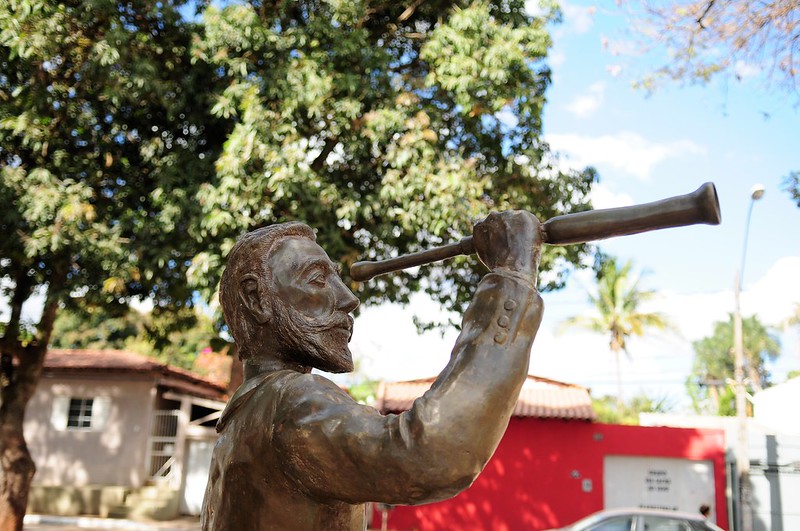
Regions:
[[[603,509],[606,455],[678,457],[714,464],[717,524],[728,527],[721,430],[514,418],[475,483],[455,498],[389,512],[389,529],[516,531],[568,525]],[[584,492],[582,481],[592,481]],[[380,529],[375,510],[373,527]]]

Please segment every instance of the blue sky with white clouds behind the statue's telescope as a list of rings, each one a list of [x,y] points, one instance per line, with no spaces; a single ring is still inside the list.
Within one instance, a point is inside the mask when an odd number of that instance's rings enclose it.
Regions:
[[[658,292],[648,309],[665,313],[676,326],[675,332],[631,342],[631,357],[623,364],[624,394],[667,396],[680,409],[686,406],[683,382],[691,370],[691,341],[709,335],[714,321],[733,310],[750,191],[757,183],[766,193],[752,212],[742,312],[779,325],[800,303],[800,209],[781,189],[790,171],[800,171],[800,100],[770,90],[768,80],[752,68],[742,82],[673,84],[652,95],[634,90],[633,81],[657,66],[658,56],[631,53],[636,46],[626,30],[628,19],[595,5],[566,3],[564,23],[553,32],[553,84],[544,117],[551,147],[561,153],[563,164],[598,169],[597,208],[681,195],[706,181],[715,183],[720,198],[719,226],[651,232],[600,245],[645,272],[643,286]],[[590,275],[579,272],[565,290],[545,294],[530,372],[586,385],[594,395],[611,394],[614,365],[607,340],[581,330],[557,332],[565,318],[589,311],[590,287]],[[410,315],[437,311],[422,296],[410,308],[364,311],[353,338],[362,370],[391,380],[436,374],[447,362],[455,333],[413,337]],[[774,381],[800,369],[799,335],[797,328],[780,331],[783,353],[772,366]]]

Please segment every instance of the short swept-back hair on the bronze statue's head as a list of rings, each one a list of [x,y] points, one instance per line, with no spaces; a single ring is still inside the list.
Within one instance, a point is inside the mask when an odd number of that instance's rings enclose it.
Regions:
[[[258,325],[239,296],[240,282],[248,273],[255,273],[262,281],[271,281],[272,272],[267,265],[270,254],[276,244],[291,237],[316,241],[311,227],[299,221],[290,221],[244,234],[228,254],[228,263],[219,284],[219,302],[228,329],[239,346],[239,357],[243,360],[251,355]]]

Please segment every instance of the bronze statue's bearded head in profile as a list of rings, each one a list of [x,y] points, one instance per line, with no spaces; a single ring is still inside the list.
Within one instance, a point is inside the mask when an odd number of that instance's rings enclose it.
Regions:
[[[353,370],[350,313],[358,299],[315,240],[308,225],[281,223],[245,234],[228,255],[219,298],[243,361],[270,356]]]

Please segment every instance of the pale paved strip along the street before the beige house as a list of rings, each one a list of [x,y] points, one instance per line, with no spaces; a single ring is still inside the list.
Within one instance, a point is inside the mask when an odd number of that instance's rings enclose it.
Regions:
[[[29,514],[25,516],[25,531],[199,531],[200,519],[183,517],[167,522],[143,522],[89,516],[49,516]]]

